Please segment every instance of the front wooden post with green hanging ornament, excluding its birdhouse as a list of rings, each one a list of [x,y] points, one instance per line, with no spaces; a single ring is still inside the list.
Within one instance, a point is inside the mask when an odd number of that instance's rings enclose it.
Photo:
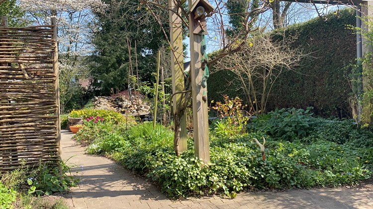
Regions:
[[[188,0],[189,11],[196,0]],[[190,40],[190,76],[191,76],[191,94],[193,108],[193,137],[194,154],[204,163],[210,161],[210,149],[208,139],[208,115],[207,103],[202,100],[203,91],[207,92],[201,86],[203,70],[201,69],[202,54],[200,52],[202,36],[193,33],[194,18],[189,14],[189,40]],[[206,95],[207,96],[207,95]]]

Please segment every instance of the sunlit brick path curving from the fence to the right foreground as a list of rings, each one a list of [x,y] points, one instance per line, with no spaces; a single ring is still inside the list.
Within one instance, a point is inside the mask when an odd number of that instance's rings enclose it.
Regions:
[[[84,154],[85,148],[77,145],[72,136],[62,133],[62,157],[72,157],[69,162],[84,169],[79,186],[65,196],[72,209],[373,209],[372,185],[170,201],[155,186],[115,162]]]

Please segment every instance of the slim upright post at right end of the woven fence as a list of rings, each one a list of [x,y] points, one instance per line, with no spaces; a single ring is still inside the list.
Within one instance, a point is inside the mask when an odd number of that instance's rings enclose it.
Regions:
[[[56,17],[51,17],[51,23],[53,25],[53,35],[52,39],[55,40],[54,46],[54,52],[53,52],[53,73],[55,76],[55,82],[54,82],[54,91],[56,94],[56,105],[57,108],[54,112],[54,114],[57,116],[57,121],[55,122],[55,125],[57,126],[57,136],[58,136],[58,155],[61,157],[61,116],[60,116],[60,84],[59,84],[59,74],[58,74],[58,43],[57,43],[57,22]],[[60,175],[62,178],[62,165],[59,162],[60,166]]]

